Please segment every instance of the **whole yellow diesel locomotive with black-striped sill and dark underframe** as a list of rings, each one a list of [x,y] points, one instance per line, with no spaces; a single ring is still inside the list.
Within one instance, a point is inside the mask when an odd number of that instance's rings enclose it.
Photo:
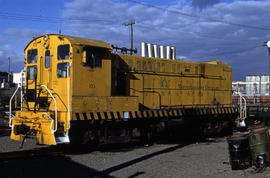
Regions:
[[[231,67],[219,61],[118,54],[103,41],[49,34],[26,46],[25,69],[23,107],[10,112],[17,141],[149,141],[171,121],[220,131],[238,115]]]

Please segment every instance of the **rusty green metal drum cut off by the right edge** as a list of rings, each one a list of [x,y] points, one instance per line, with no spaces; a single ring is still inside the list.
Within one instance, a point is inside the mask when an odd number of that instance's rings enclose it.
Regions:
[[[270,158],[270,135],[267,127],[253,129],[249,135],[250,150],[253,163],[259,155],[265,155],[269,163]]]

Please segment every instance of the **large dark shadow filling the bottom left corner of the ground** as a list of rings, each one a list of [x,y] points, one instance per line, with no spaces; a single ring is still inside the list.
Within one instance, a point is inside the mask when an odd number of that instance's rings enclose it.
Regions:
[[[48,150],[47,150],[48,151]],[[61,153],[45,150],[0,154],[0,177],[111,177],[72,161]]]

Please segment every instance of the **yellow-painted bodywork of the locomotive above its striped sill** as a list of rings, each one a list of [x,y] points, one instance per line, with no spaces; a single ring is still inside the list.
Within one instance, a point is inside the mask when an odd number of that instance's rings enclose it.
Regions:
[[[68,59],[57,59],[59,45],[69,45]],[[86,47],[103,51],[101,67],[85,65]],[[38,51],[37,62],[28,63],[28,51],[33,49]],[[50,66],[46,67],[45,53],[48,50]],[[33,39],[25,48],[25,56],[26,71],[28,67],[37,66],[37,78],[26,79],[26,89],[37,90],[36,96],[39,93],[39,98],[48,98],[48,102],[42,106],[34,101],[24,101],[23,111],[16,112],[12,121],[13,140],[22,140],[24,136],[15,135],[14,127],[26,125],[34,131],[32,135],[36,136],[39,144],[57,144],[52,131],[54,122],[48,119],[55,119],[55,103],[41,85],[48,87],[56,99],[56,133],[62,135],[68,133],[69,114],[71,120],[76,120],[75,113],[119,112],[122,116],[125,111],[138,111],[139,105],[160,109],[231,104],[231,67],[223,62],[195,63],[117,54],[112,53],[111,46],[103,41],[63,35],[44,35]],[[69,78],[57,77],[57,66],[61,63],[70,64]],[[67,76],[66,71],[62,74]]]

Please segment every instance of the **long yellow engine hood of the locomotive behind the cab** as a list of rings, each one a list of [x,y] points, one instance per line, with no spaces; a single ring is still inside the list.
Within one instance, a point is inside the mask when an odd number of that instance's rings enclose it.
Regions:
[[[118,60],[129,65],[129,95],[138,96],[139,102],[147,108],[214,103],[231,105],[231,67],[226,63],[195,63],[120,54]]]

